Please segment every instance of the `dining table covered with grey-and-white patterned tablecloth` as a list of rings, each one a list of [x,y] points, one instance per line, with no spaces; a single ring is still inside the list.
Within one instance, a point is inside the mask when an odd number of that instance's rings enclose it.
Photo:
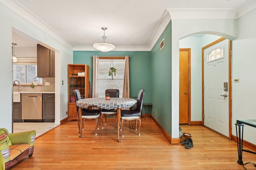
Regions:
[[[76,106],[78,109],[78,116],[82,117],[82,108],[88,107],[99,107],[100,109],[116,109],[117,111],[117,141],[120,142],[119,137],[119,125],[121,118],[121,109],[127,109],[134,106],[137,103],[137,100],[133,98],[86,98],[76,101]],[[80,121],[80,134],[79,137],[82,137],[82,121]]]

